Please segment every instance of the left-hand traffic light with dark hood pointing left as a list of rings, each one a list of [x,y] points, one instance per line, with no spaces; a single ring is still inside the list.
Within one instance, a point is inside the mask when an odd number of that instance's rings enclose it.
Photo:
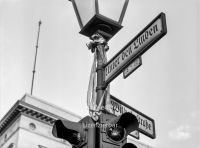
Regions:
[[[73,148],[94,148],[95,129],[88,128],[87,125],[94,124],[91,117],[87,116],[79,122],[72,122],[69,120],[56,120],[52,134],[56,138],[61,138],[68,141]],[[88,141],[90,139],[90,141]],[[88,145],[90,145],[88,147]]]

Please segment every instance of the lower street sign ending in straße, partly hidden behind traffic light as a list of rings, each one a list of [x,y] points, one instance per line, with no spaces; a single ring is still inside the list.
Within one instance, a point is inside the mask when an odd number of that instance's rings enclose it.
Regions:
[[[156,133],[155,133],[155,122],[152,118],[148,117],[147,115],[141,113],[140,111],[132,108],[128,104],[120,101],[116,97],[112,96],[111,99],[111,105],[112,105],[112,114],[119,116],[125,112],[130,112],[133,115],[135,115],[139,122],[139,132],[145,134],[146,136],[155,139]]]

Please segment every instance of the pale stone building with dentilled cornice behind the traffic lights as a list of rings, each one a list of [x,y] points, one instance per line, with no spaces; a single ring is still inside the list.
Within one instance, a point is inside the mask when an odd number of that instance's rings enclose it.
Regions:
[[[0,148],[70,148],[67,141],[52,135],[56,119],[77,122],[81,117],[25,94],[0,121]],[[128,140],[138,148],[151,148],[131,137]]]

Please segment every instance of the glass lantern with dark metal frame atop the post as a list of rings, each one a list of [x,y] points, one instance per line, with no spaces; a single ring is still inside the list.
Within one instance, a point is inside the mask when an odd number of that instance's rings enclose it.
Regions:
[[[81,31],[91,37],[100,33],[107,40],[121,28],[129,0],[70,0],[73,4]]]

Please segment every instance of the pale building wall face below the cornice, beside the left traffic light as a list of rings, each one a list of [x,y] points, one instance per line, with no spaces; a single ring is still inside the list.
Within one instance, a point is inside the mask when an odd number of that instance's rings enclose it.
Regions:
[[[68,148],[71,145],[53,137],[52,125],[22,115],[20,119],[18,148]],[[43,147],[42,147],[43,146]]]

